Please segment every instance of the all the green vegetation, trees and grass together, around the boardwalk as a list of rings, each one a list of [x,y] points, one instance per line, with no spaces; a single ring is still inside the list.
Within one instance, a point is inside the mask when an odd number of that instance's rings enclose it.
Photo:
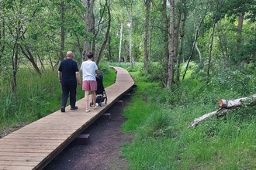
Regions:
[[[255,22],[255,0],[0,0],[1,137],[59,110],[59,63],[92,50],[106,87],[135,77],[128,169],[254,169],[255,105],[187,127],[255,93]]]

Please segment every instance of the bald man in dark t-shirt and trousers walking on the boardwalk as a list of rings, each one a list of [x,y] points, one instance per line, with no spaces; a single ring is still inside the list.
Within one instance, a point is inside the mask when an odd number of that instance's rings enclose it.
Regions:
[[[75,103],[77,84],[78,86],[81,85],[81,77],[78,70],[78,63],[73,60],[73,53],[71,51],[67,52],[67,59],[61,61],[58,69],[58,76],[62,88],[61,112],[65,112],[68,95],[71,104],[71,110],[78,109],[78,107],[75,106]]]

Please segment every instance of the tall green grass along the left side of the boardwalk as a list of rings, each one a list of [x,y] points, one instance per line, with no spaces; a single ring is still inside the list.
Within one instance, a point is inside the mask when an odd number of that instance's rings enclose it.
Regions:
[[[102,63],[99,66],[99,71],[103,74],[105,87],[114,83],[115,70]],[[0,81],[2,94],[0,100],[0,134],[3,134],[6,128],[14,128],[11,130],[14,131],[20,126],[29,124],[60,109],[61,84],[57,77],[57,71],[45,70],[39,75],[33,70],[20,68],[17,74],[18,86],[16,93],[11,91],[8,77],[1,78],[5,81]],[[84,97],[84,91],[81,90],[81,87],[78,87],[77,100],[82,97]]]

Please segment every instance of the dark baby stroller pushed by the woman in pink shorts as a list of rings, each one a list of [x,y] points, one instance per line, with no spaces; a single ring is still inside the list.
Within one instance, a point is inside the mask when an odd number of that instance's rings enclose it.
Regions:
[[[97,81],[97,90],[96,90],[96,103],[102,107],[102,103],[105,101],[107,104],[107,95],[103,86],[103,76],[102,73],[99,73],[99,76],[96,76]],[[90,107],[92,107],[93,101],[90,103]]]

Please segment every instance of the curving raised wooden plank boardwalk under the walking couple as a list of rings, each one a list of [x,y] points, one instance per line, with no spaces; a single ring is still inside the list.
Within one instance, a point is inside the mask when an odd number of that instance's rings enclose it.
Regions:
[[[78,110],[53,114],[34,121],[0,139],[1,170],[43,169],[64,148],[85,131],[90,124],[123,97],[134,85],[130,74],[120,68],[116,70],[116,82],[106,87],[107,104],[85,113],[84,98],[77,101]],[[91,99],[91,97],[89,97]]]

